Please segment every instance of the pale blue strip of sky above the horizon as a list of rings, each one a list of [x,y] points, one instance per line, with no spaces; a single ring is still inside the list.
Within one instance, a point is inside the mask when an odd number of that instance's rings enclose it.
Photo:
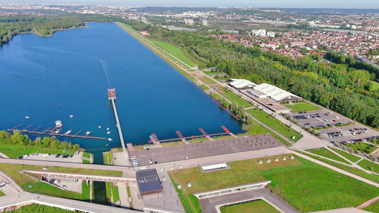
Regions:
[[[279,8],[370,8],[379,0],[0,0],[0,3],[82,3],[107,6],[279,7]]]

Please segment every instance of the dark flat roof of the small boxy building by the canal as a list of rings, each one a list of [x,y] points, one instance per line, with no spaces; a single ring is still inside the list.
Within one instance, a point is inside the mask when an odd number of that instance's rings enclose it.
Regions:
[[[141,193],[162,189],[161,181],[155,169],[136,172],[136,179]]]

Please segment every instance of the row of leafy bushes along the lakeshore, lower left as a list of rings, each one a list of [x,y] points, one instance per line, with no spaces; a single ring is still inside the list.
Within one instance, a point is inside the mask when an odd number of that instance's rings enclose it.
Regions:
[[[52,137],[37,137],[31,140],[28,135],[23,135],[19,131],[15,130],[13,134],[7,131],[0,131],[0,145],[21,145],[21,146],[33,146],[39,148],[52,148],[52,149],[71,149],[79,150],[79,144],[72,145],[71,142],[60,141]]]

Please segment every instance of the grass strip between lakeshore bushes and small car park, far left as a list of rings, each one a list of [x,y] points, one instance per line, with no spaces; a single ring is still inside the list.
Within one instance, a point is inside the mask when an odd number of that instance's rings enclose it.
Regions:
[[[4,155],[8,156],[9,158],[16,158],[22,155],[30,155],[31,153],[49,153],[49,154],[62,154],[63,149],[50,149],[50,148],[38,148],[38,147],[31,147],[31,146],[24,146],[22,145],[16,145],[16,144],[9,144],[9,145],[0,145],[0,152]],[[72,155],[74,154],[74,151],[71,151],[70,153],[67,153],[66,155]]]

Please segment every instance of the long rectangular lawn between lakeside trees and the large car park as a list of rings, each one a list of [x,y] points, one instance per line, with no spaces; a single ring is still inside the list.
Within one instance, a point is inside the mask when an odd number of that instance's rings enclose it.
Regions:
[[[278,119],[272,117],[271,115],[265,113],[261,109],[255,107],[246,110],[247,113],[251,114],[253,117],[255,117],[258,121],[263,122],[264,124],[268,125],[269,127],[273,128],[276,132],[279,132],[286,138],[290,139],[291,141],[297,141],[301,138],[301,134],[296,132],[294,129],[288,127],[287,125],[283,124]],[[292,137],[295,136],[294,139]]]

